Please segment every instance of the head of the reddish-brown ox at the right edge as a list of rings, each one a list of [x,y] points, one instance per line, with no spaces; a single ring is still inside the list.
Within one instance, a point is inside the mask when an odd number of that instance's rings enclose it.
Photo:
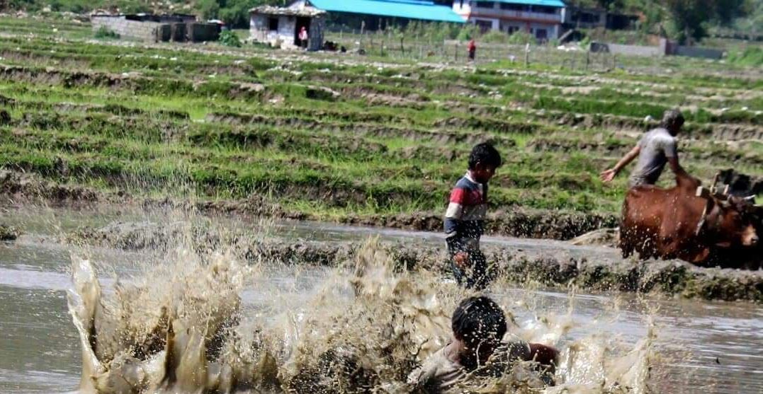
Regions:
[[[756,226],[757,216],[739,203],[718,200],[716,202],[718,205],[710,214],[716,217],[712,219],[708,217],[710,219],[708,222],[713,223],[710,226],[713,227],[712,232],[716,235],[716,245],[722,248],[757,246],[761,236],[758,234],[759,226]]]

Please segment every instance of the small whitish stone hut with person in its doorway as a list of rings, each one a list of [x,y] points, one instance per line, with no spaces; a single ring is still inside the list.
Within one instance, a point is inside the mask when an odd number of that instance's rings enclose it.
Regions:
[[[271,7],[263,5],[250,10],[250,34],[258,43],[282,49],[300,46],[299,31],[307,29],[307,50],[320,50],[324,42],[326,11],[313,7]]]

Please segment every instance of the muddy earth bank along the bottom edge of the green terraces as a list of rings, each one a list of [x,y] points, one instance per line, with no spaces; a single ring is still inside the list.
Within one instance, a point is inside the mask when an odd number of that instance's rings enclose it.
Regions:
[[[307,190],[295,190],[287,192],[285,195],[307,192]],[[316,198],[328,197],[317,195]],[[363,200],[365,196],[358,198]],[[243,200],[215,201],[144,198],[130,196],[124,191],[97,191],[90,187],[60,184],[20,171],[0,170],[0,204],[18,205],[19,203],[38,203],[40,201],[53,206],[81,207],[83,204],[107,204],[133,208],[194,210],[209,215],[268,216],[298,220],[324,219],[309,213],[286,210],[278,201],[267,200],[265,197],[257,195]],[[442,213],[427,212],[366,216],[349,214],[336,218],[336,222],[357,226],[433,232],[439,232],[443,229]],[[619,219],[616,215],[607,213],[575,213],[513,208],[491,213],[488,216],[486,230],[488,235],[566,240],[596,229],[615,227],[618,222]]]

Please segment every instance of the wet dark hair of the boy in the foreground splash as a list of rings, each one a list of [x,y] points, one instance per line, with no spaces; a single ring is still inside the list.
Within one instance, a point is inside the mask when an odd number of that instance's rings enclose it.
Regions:
[[[463,300],[453,311],[453,335],[467,344],[482,341],[501,341],[506,334],[506,316],[501,306],[486,296]]]

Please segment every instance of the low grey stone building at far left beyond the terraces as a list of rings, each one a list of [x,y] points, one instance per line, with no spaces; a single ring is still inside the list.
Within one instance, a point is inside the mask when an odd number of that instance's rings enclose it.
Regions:
[[[194,15],[172,14],[93,14],[90,17],[93,32],[106,29],[119,37],[145,42],[217,41],[220,26],[196,21]]]

